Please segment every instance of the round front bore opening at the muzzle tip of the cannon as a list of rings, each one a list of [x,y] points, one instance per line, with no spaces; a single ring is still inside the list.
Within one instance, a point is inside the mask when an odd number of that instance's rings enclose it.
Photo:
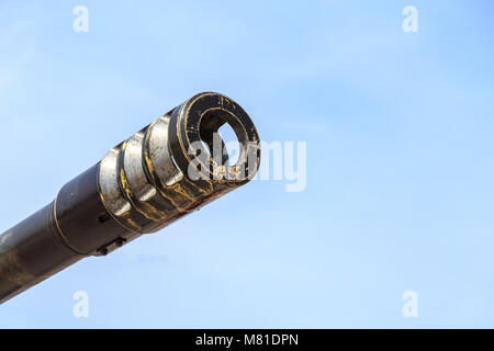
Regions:
[[[215,160],[221,157],[222,166],[242,162],[246,133],[235,116],[222,110],[205,112],[201,117],[199,135],[204,151]]]

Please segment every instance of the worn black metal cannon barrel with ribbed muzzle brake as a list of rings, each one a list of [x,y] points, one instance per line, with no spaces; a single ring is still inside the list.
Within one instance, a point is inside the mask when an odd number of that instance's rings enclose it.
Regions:
[[[231,165],[218,128],[238,139]],[[260,160],[248,114],[199,93],[119,144],[55,200],[0,235],[0,304],[89,256],[105,256],[248,182]]]

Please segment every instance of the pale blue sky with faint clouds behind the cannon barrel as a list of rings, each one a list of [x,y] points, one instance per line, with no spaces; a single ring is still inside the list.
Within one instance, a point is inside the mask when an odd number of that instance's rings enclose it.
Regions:
[[[200,91],[236,100],[266,141],[306,141],[307,184],[254,181],[80,261],[0,306],[0,327],[494,327],[493,10],[2,1],[1,228]]]

